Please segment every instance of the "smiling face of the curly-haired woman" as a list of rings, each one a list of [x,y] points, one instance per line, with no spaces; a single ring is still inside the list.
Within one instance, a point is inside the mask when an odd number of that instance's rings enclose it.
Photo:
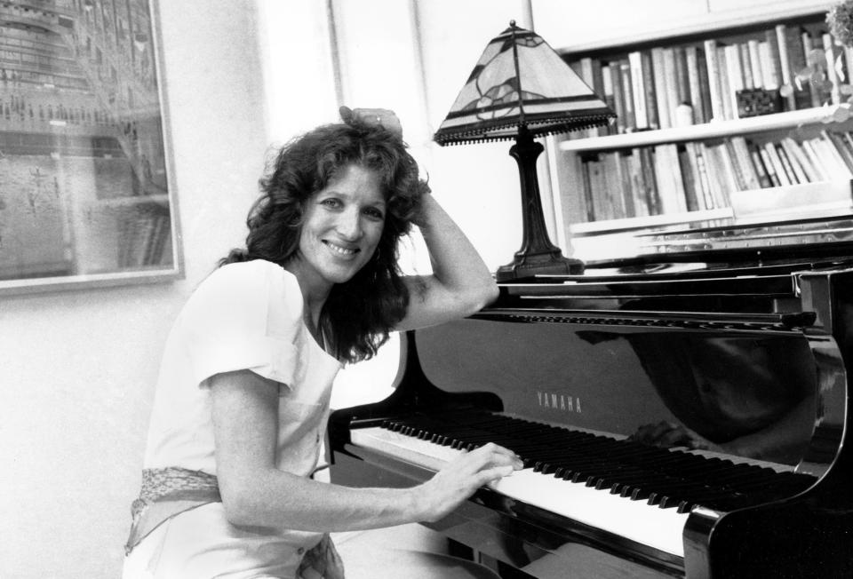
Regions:
[[[377,174],[359,165],[342,168],[306,202],[293,273],[313,290],[347,282],[373,256],[385,213]]]

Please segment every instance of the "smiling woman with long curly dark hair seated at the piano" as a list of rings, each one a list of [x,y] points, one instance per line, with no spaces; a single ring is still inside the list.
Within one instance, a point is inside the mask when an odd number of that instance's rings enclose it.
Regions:
[[[328,535],[441,519],[521,468],[496,445],[418,488],[311,479],[342,362],[391,330],[474,313],[497,295],[481,258],[428,194],[389,111],[283,147],[233,250],[195,290],[163,354],[125,577],[342,576]],[[433,274],[402,276],[419,226]]]

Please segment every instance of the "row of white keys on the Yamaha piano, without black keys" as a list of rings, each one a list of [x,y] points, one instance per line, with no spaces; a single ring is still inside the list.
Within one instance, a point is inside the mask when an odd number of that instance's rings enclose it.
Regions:
[[[354,444],[371,448],[399,460],[417,464],[433,471],[441,470],[462,453],[427,440],[392,432],[380,427],[359,428],[350,432]],[[583,483],[557,479],[552,474],[524,469],[490,485],[502,495],[554,512],[591,527],[684,556],[682,536],[689,513],[676,509],[661,509],[612,495],[609,490],[597,490]]]

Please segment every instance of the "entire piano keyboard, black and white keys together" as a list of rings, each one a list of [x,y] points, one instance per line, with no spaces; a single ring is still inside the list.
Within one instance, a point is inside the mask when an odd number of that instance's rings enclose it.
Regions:
[[[432,471],[463,449],[495,442],[521,456],[525,468],[490,488],[677,557],[684,556],[682,535],[694,506],[729,510],[754,503],[753,494],[768,488],[792,492],[813,481],[490,413],[409,416],[354,428],[350,437]]]

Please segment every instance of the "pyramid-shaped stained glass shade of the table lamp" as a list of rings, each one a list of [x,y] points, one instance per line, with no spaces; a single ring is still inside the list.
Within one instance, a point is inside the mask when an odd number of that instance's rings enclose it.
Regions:
[[[541,36],[510,22],[477,61],[447,118],[439,145],[578,131],[616,115]]]

